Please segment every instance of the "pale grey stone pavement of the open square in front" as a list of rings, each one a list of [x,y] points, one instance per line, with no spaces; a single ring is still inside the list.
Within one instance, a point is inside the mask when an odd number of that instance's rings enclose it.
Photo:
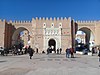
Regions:
[[[65,58],[65,54],[34,54],[0,56],[0,75],[99,75],[98,56],[79,55]]]

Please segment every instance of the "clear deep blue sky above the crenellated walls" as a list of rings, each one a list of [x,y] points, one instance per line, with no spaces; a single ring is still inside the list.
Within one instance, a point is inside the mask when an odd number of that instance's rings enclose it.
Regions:
[[[1,19],[31,20],[33,17],[100,20],[100,0],[0,0]]]

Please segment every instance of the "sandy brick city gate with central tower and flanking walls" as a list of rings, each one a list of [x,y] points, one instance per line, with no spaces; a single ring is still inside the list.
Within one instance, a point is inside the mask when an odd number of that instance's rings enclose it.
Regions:
[[[24,45],[31,45],[34,49],[38,48],[40,53],[46,52],[49,46],[54,47],[54,50],[62,48],[62,52],[65,52],[67,47],[75,49],[78,30],[86,33],[87,43],[92,40],[95,46],[100,45],[100,21],[74,21],[70,17],[36,17],[36,19],[32,18],[32,21],[0,20],[0,46],[11,48],[13,44],[22,42]]]

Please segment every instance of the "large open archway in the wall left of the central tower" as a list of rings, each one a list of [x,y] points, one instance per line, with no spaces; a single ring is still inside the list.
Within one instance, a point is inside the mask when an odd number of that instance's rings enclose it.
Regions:
[[[13,45],[18,45],[19,43],[27,45],[29,40],[30,40],[30,32],[24,27],[19,27],[14,31],[11,41],[13,46]]]

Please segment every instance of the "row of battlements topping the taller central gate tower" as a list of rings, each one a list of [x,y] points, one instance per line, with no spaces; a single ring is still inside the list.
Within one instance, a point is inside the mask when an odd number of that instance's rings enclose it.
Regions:
[[[45,21],[49,21],[49,20],[51,20],[51,21],[59,21],[59,20],[69,20],[69,19],[71,19],[71,17],[69,17],[69,18],[66,18],[66,17],[36,17],[36,18],[32,18],[32,20],[45,20]]]

